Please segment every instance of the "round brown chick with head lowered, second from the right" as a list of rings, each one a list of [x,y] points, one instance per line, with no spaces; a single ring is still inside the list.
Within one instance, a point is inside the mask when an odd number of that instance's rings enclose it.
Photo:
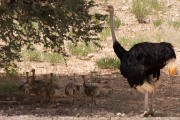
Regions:
[[[76,85],[74,83],[69,83],[69,84],[66,85],[65,94],[67,96],[69,96],[70,99],[72,98],[71,104],[74,104],[74,101],[75,101],[75,99],[77,97],[77,93],[79,92],[79,90],[80,90],[80,86]]]

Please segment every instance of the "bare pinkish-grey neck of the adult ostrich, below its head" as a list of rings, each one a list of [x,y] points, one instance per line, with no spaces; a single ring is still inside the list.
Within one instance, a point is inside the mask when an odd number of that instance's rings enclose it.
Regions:
[[[115,36],[115,31],[114,31],[114,11],[110,12],[110,29],[111,29],[111,35],[112,35],[113,43],[115,43],[116,42],[116,36]]]

